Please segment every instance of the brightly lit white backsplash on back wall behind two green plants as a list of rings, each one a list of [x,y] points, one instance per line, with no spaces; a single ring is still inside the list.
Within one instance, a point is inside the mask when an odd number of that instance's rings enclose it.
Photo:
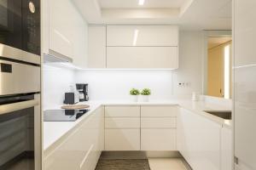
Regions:
[[[128,100],[131,88],[150,88],[151,99],[172,96],[172,71],[78,71],[76,82],[89,83],[91,100]]]

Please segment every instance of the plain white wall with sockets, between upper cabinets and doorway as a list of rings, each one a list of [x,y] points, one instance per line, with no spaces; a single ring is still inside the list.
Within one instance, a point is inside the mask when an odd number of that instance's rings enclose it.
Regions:
[[[203,32],[181,31],[179,37],[179,68],[173,71],[173,94],[187,95],[202,91]],[[188,83],[179,87],[179,82]]]

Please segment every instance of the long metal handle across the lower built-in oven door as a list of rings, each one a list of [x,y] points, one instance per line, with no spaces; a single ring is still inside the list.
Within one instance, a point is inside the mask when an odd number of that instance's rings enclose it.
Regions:
[[[13,104],[7,104],[7,105],[0,105],[0,115],[10,113],[13,111],[20,111],[23,109],[27,109],[30,107],[34,107],[36,105],[39,105],[38,99],[32,99],[27,101],[21,101]]]

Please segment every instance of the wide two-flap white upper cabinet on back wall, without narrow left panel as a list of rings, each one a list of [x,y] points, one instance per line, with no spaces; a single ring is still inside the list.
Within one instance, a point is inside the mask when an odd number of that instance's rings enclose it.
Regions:
[[[107,68],[177,69],[177,26],[107,26]]]

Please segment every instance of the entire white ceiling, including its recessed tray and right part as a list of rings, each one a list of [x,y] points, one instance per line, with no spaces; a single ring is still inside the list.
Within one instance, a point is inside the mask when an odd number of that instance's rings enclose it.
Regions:
[[[231,30],[232,0],[73,0],[89,24],[178,25],[182,30]]]

